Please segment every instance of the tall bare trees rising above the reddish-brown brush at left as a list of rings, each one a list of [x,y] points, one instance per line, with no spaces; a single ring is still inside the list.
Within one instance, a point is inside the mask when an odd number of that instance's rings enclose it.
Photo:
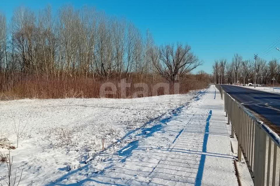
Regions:
[[[0,13],[0,73],[47,79],[130,78],[169,82],[186,78],[202,62],[188,44],[157,46],[149,30],[86,7],[17,8],[10,23]]]

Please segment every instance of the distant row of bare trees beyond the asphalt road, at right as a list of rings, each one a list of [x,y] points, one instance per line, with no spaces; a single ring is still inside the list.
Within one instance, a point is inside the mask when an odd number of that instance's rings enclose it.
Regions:
[[[271,85],[272,79],[280,83],[280,63],[276,59],[266,61],[262,58],[243,60],[239,54],[234,54],[232,61],[222,58],[215,60],[213,66],[213,83],[248,84],[253,83],[256,74],[256,84]]]

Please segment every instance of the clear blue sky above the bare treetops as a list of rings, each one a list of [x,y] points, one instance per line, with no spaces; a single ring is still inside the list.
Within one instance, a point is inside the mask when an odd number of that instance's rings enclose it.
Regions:
[[[157,44],[188,43],[204,61],[195,71],[209,73],[215,59],[231,61],[234,53],[253,58],[280,36],[280,1],[2,0],[0,11],[10,19],[17,6],[36,11],[48,3],[53,9],[67,3],[75,8],[94,6],[134,22],[142,33],[148,28]],[[280,42],[277,46],[280,48]],[[271,52],[265,52],[263,58],[280,58],[279,51]]]

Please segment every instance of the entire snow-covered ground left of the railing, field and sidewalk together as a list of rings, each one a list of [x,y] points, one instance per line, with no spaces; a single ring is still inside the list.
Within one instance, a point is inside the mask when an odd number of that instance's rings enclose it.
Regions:
[[[19,147],[11,150],[14,168],[23,169],[20,185],[238,185],[213,85],[184,95],[0,105],[1,138],[12,144],[11,115],[16,124],[28,120]]]

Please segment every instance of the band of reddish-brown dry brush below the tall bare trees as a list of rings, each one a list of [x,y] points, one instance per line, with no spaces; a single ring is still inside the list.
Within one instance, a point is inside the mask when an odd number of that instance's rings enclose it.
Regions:
[[[99,98],[99,90],[103,83],[111,82],[117,87],[115,95],[106,95],[109,98],[121,98],[120,88],[118,83],[120,77],[112,77],[104,81],[96,79],[93,81],[91,78],[57,78],[25,74],[9,74],[4,76],[0,73],[0,100],[13,100],[13,99],[57,99],[57,98]],[[145,78],[140,81],[132,74],[126,82],[131,83],[131,87],[127,88],[127,98],[133,97],[134,92],[139,91],[134,88],[135,83],[146,83],[149,87],[148,95],[152,96],[152,87],[155,83],[167,83],[162,78],[157,78],[156,82],[152,81],[151,77]],[[205,88],[208,83],[199,83],[194,76],[188,77],[185,83],[180,83],[180,93],[187,93],[189,90],[197,90]],[[172,90],[172,89],[171,89]],[[170,91],[171,91],[170,90]],[[158,95],[164,94],[162,89],[157,92]],[[172,94],[171,91],[169,94]]]

